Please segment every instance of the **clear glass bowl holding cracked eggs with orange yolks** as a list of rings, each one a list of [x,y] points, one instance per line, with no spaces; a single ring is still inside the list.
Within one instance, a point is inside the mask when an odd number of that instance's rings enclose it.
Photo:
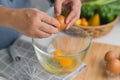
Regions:
[[[54,74],[75,71],[83,63],[91,43],[89,35],[75,26],[49,38],[32,39],[40,64]]]

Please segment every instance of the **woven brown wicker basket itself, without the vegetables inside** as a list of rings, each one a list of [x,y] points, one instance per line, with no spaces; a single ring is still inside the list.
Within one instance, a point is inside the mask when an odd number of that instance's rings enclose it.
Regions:
[[[83,30],[87,31],[88,34],[92,37],[92,38],[98,38],[101,36],[104,36],[106,34],[108,34],[112,28],[115,26],[115,24],[117,23],[117,21],[119,20],[119,17],[116,17],[116,19],[108,24],[105,25],[100,25],[100,26],[79,26],[81,27]]]

